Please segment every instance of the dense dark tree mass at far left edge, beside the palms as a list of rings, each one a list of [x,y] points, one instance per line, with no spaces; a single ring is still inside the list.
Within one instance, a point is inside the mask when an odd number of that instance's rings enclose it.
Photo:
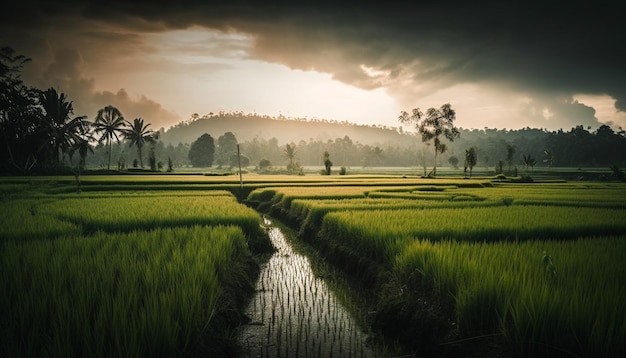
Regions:
[[[76,151],[80,167],[90,150],[89,122],[86,116],[72,117],[73,103],[64,93],[22,83],[20,71],[29,61],[10,47],[0,50],[0,171],[56,169]]]

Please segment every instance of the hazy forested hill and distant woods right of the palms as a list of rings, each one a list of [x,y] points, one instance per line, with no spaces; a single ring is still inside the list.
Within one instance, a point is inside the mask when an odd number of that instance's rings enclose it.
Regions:
[[[534,167],[597,167],[626,165],[626,133],[602,125],[596,131],[576,126],[568,131],[545,129],[464,129],[460,137],[446,142],[447,150],[439,155],[438,166],[463,167],[465,150],[474,147],[477,168],[496,172],[524,167],[531,158]],[[365,126],[319,119],[269,117],[243,112],[220,112],[195,116],[168,130],[160,129],[155,145],[157,158],[173,163],[173,169],[190,166],[191,143],[202,134],[214,138],[216,153],[220,137],[234,135],[245,162],[259,167],[267,162],[285,167],[286,145],[295,148],[295,158],[302,166],[323,166],[328,152],[335,168],[339,167],[431,167],[433,149],[414,132],[402,127]],[[120,144],[118,153],[132,157],[128,146]],[[102,148],[101,148],[102,149]],[[232,149],[231,149],[232,150]],[[231,153],[232,154],[232,153]],[[228,157],[220,153],[221,157]],[[217,158],[217,156],[216,156]],[[128,158],[125,159],[128,163]],[[88,158],[91,165],[102,166],[104,153],[96,148]],[[235,165],[228,160],[214,163],[221,167]],[[532,169],[532,168],[531,168]]]

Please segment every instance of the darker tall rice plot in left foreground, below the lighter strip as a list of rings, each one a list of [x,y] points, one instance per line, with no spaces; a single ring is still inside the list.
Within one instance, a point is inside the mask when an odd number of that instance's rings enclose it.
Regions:
[[[0,355],[182,357],[207,339],[246,250],[237,227],[5,242]]]

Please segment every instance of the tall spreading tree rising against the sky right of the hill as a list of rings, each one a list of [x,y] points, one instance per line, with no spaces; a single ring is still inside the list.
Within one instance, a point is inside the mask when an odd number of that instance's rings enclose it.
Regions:
[[[452,142],[460,136],[459,130],[454,126],[455,119],[456,112],[449,103],[438,109],[431,107],[426,113],[423,113],[419,108],[414,108],[412,114],[402,111],[398,117],[401,123],[415,126],[418,133],[422,135],[422,142],[433,141],[435,147],[433,176],[437,175],[437,154],[444,153],[447,149],[441,140],[445,138]]]

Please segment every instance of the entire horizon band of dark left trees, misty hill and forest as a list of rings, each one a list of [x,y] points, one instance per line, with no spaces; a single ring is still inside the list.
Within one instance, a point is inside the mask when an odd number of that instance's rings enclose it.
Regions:
[[[86,169],[176,171],[189,167],[190,148],[204,134],[213,166],[235,166],[237,148],[249,170],[324,167],[410,167],[426,172],[434,147],[398,127],[356,125],[324,119],[269,117],[243,112],[193,115],[169,129],[150,120],[124,118],[112,105],[95,121],[75,116],[73,101],[54,88],[27,87],[22,67],[30,59],[0,49],[0,174],[47,174]],[[460,114],[462,115],[462,114]],[[437,166],[463,167],[470,148],[475,167],[502,173],[518,167],[611,168],[626,165],[626,132],[597,130],[464,129],[445,141]],[[194,153],[195,155],[195,153]],[[192,155],[193,156],[193,155]],[[146,169],[147,170],[147,169]]]

